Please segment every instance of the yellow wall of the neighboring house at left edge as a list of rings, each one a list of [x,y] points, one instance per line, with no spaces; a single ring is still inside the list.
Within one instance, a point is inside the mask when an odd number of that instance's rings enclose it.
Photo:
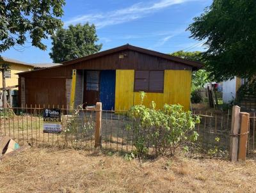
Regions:
[[[1,63],[0,63],[1,65]],[[27,65],[18,65],[18,64],[10,64],[10,70],[11,70],[11,78],[6,78],[6,87],[7,86],[15,86],[19,84],[19,75],[15,73],[19,72],[25,72],[28,70],[33,70],[33,66],[27,66]],[[0,73],[0,88],[3,88],[3,78],[2,73]],[[15,88],[18,89],[18,88]]]

